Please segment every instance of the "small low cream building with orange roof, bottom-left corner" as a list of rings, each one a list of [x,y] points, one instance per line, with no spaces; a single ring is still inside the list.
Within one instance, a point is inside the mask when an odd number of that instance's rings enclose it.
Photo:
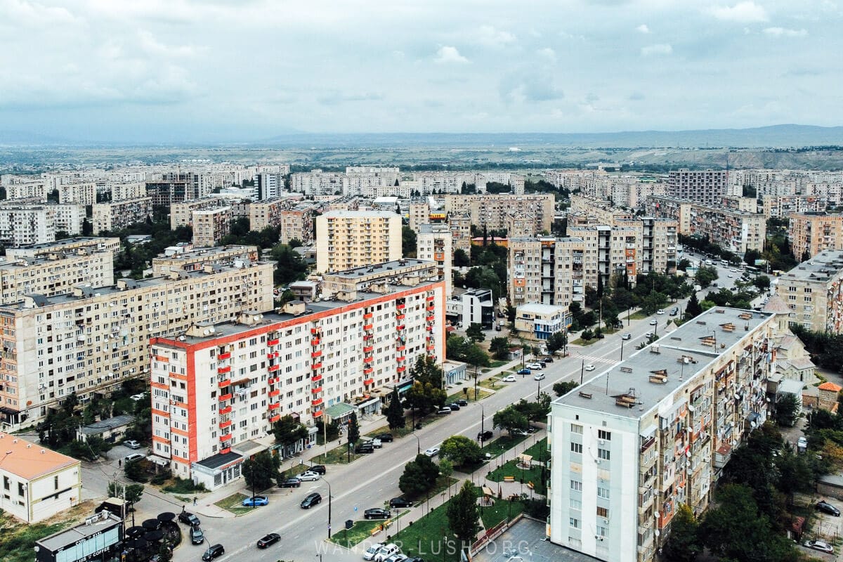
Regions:
[[[82,500],[82,463],[0,432],[0,509],[25,523],[49,519]]]

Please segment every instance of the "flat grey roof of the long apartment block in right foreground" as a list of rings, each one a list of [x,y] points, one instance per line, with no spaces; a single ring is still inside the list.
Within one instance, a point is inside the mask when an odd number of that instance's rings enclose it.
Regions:
[[[774,314],[715,307],[689,320],[629,356],[626,361],[599,373],[570,393],[554,400],[572,408],[588,409],[631,419],[639,419],[669,394],[688,383],[722,353],[749,332],[764,324]],[[731,324],[733,329],[728,330]],[[714,345],[703,341],[713,338]],[[715,347],[716,346],[716,347]],[[665,371],[665,383],[652,383],[650,376]],[[616,397],[634,389],[634,406],[615,403]]]

